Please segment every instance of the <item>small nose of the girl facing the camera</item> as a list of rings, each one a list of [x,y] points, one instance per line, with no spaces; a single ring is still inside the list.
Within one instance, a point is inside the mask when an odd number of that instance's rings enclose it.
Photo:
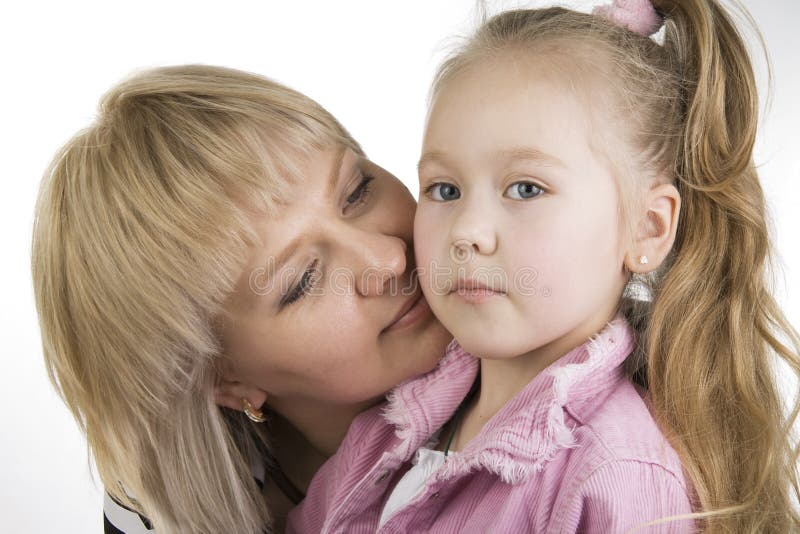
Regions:
[[[450,256],[466,263],[476,254],[490,255],[497,248],[492,210],[485,203],[464,202],[450,227]]]

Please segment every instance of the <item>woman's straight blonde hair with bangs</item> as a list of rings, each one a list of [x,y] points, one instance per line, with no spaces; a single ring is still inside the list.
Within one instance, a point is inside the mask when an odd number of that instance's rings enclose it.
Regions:
[[[158,532],[268,525],[249,463],[265,437],[214,402],[217,326],[259,240],[251,215],[274,214],[304,158],[340,145],[361,154],[292,89],[163,67],[106,93],[42,180],[31,265],[50,379],[106,490]]]

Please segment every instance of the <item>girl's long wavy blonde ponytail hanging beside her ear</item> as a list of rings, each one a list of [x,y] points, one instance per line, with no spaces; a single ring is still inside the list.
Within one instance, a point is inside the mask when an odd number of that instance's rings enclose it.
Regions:
[[[793,405],[773,355],[800,374],[797,332],[771,295],[766,206],[752,150],[758,98],[744,40],[715,2],[662,2],[684,79],[675,160],[683,209],[646,338],[648,387],[694,481],[708,532],[800,529]],[[779,338],[790,343],[784,345]]]

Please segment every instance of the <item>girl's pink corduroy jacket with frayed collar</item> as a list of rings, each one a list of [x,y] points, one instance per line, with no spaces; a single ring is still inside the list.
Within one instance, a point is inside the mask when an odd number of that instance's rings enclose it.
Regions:
[[[353,421],[288,532],[609,534],[690,513],[678,456],[623,374],[634,342],[617,316],[550,365],[378,530],[393,485],[477,374],[478,361],[453,341],[436,369]],[[677,520],[639,532],[692,531]]]

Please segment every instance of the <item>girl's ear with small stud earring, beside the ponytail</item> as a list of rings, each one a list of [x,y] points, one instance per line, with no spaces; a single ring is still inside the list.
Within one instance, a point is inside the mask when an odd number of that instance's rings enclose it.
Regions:
[[[653,186],[645,196],[637,234],[625,254],[625,266],[634,273],[656,270],[672,250],[678,230],[681,196],[672,184]]]

